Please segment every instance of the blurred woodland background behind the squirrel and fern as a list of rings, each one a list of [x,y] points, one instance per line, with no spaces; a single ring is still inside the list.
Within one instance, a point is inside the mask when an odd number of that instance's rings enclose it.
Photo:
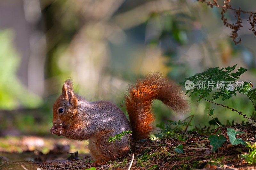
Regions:
[[[230,4],[256,8],[254,0]],[[236,22],[233,11],[226,17]],[[235,45],[220,9],[195,0],[1,0],[0,136],[51,135],[52,105],[67,78],[87,100],[118,106],[128,85],[151,72],[180,82],[209,67],[238,64],[250,69],[240,80],[256,86],[256,38],[248,17],[241,15],[242,42]],[[194,114],[192,125],[204,125],[212,119],[210,108],[223,124],[243,120],[197,99],[188,97],[191,109],[181,115],[156,101],[156,123]],[[221,103],[254,110],[241,95]]]

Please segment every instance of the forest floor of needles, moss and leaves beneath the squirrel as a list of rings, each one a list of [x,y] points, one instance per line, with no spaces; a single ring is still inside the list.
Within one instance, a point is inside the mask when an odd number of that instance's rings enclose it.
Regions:
[[[245,142],[252,145],[255,142],[256,127],[250,124],[226,127],[245,132],[237,136]],[[89,168],[93,170],[128,169],[129,166],[131,169],[254,169],[254,166],[248,163],[256,159],[254,152],[242,158],[241,154],[247,154],[250,150],[243,144],[232,145],[226,133],[226,127],[219,127],[214,131],[228,139],[214,152],[210,141],[204,135],[205,128],[202,128],[201,133],[192,131],[185,134],[187,137],[184,141],[163,138],[136,144],[133,154],[93,166],[92,162],[95,160],[90,156],[87,143],[84,142],[37,136],[2,137],[0,138],[0,169]],[[179,144],[182,146],[183,153],[177,152]],[[67,151],[75,152],[76,150],[78,156],[70,157],[71,154],[67,153]],[[251,151],[254,150],[251,149]],[[78,158],[79,160],[76,160]]]

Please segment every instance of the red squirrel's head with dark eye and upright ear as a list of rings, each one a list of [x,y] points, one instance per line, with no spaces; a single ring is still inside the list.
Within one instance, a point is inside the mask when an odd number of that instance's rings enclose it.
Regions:
[[[62,87],[62,94],[53,104],[53,125],[60,125],[63,128],[69,128],[70,121],[74,118],[77,98],[72,88],[71,80],[66,80]]]

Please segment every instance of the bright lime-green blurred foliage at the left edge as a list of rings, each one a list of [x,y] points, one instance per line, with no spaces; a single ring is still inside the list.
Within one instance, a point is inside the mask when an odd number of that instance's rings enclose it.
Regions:
[[[38,107],[42,99],[29,92],[16,76],[20,56],[12,42],[12,30],[0,30],[0,109],[12,110],[20,104],[27,108]]]

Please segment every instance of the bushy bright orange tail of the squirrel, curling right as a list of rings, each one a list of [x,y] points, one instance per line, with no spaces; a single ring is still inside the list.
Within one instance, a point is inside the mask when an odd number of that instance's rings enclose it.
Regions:
[[[132,125],[132,138],[134,141],[148,138],[154,127],[151,112],[152,100],[161,100],[174,111],[188,109],[187,101],[183,97],[180,86],[161,77],[160,74],[148,75],[144,80],[138,80],[129,87],[125,95],[125,106]]]

